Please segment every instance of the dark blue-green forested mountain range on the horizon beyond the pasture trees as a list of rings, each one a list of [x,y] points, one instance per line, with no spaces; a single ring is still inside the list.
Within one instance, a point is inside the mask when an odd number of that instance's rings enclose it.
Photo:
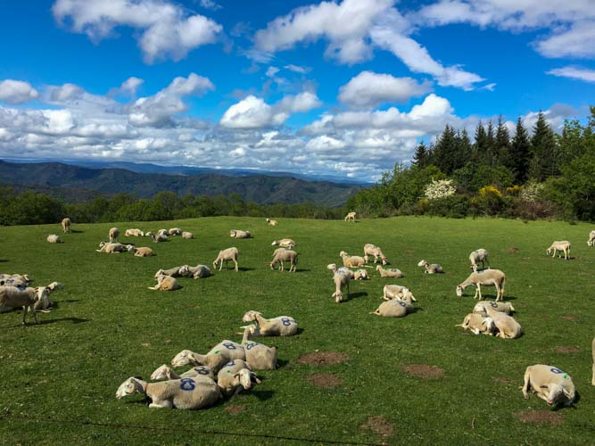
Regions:
[[[343,205],[362,187],[358,184],[295,178],[291,174],[262,175],[244,170],[222,171],[135,163],[117,163],[121,168],[93,165],[95,167],[91,168],[61,162],[0,161],[0,184],[15,186],[17,190],[33,189],[68,202],[86,202],[98,195],[120,192],[151,198],[159,192],[171,191],[180,196],[236,193],[246,202],[269,204],[312,201],[331,207]]]

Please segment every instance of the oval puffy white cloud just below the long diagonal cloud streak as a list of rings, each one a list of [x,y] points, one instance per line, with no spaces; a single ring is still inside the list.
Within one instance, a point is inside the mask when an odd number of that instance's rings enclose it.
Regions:
[[[413,78],[395,78],[390,74],[362,71],[339,89],[339,100],[357,107],[374,107],[381,103],[404,103],[429,90],[427,82]]]

